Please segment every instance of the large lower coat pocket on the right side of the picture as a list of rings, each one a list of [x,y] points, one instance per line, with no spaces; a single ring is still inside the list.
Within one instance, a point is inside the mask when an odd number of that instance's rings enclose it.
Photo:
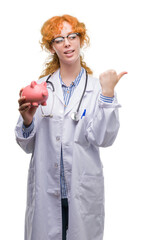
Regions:
[[[80,180],[80,212],[83,216],[104,215],[103,176],[83,174]]]

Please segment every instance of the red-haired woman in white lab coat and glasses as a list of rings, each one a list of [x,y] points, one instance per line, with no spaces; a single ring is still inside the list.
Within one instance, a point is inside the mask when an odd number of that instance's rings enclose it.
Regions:
[[[109,70],[99,80],[91,77],[80,56],[80,49],[89,44],[86,28],[72,16],[49,19],[41,34],[41,46],[52,59],[38,82],[52,74],[55,97],[52,104],[49,85],[47,106],[41,109],[25,103],[20,91],[16,139],[26,153],[32,153],[25,240],[102,240],[104,181],[99,147],[112,145],[116,138],[119,104],[114,88],[126,72],[117,75]],[[42,117],[51,112],[53,117]]]

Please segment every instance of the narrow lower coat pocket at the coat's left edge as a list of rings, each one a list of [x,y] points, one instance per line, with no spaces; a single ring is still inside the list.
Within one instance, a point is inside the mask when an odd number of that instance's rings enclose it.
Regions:
[[[28,172],[28,184],[27,184],[27,206],[33,205],[35,196],[35,175],[34,168],[30,168]]]

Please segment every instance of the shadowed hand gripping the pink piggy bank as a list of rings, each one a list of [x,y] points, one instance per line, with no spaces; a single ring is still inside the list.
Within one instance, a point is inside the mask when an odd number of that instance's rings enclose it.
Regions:
[[[33,121],[33,116],[37,110],[37,107],[31,106],[30,102],[25,102],[26,97],[21,96],[22,91],[23,91],[23,88],[20,90],[20,93],[19,93],[19,96],[20,96],[18,100],[19,112],[23,118],[23,124],[25,126],[29,126]]]

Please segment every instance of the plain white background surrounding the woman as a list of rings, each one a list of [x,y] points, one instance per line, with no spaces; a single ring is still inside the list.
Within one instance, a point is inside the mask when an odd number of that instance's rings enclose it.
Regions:
[[[30,155],[15,142],[18,93],[37,80],[46,55],[40,28],[54,15],[70,14],[86,24],[84,51],[94,76],[128,71],[116,87],[121,128],[112,147],[101,149],[105,176],[104,240],[142,239],[142,34],[141,1],[13,0],[0,6],[0,239],[24,235]]]

